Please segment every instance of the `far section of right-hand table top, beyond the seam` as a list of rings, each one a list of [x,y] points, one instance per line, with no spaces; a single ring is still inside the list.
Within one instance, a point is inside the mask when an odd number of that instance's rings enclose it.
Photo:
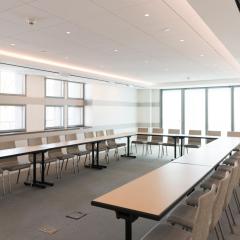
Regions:
[[[237,137],[221,137],[201,148],[183,155],[172,163],[194,164],[215,167],[240,143]]]

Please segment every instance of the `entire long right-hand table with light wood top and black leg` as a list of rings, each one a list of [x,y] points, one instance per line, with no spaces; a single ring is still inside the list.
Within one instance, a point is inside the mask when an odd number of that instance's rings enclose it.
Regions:
[[[240,138],[221,137],[190,154],[93,200],[93,206],[116,212],[125,220],[125,239],[132,239],[132,223],[139,217],[160,221],[232,151]]]

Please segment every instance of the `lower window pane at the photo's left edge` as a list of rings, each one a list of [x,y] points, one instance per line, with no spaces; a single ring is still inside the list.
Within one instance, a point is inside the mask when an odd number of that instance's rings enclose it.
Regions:
[[[0,131],[25,130],[25,106],[0,105]]]

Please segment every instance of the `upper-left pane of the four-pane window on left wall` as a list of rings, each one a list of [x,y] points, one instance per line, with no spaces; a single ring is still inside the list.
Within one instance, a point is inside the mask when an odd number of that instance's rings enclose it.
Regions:
[[[46,97],[64,97],[64,82],[62,80],[46,79]]]

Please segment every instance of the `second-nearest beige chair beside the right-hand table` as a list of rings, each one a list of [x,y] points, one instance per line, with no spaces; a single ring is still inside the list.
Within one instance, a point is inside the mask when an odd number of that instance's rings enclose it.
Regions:
[[[230,178],[231,178],[231,175],[227,172],[227,173],[225,173],[225,177],[219,181],[219,184],[217,186],[217,192],[215,195],[216,197],[215,197],[215,200],[213,201],[214,207],[212,208],[212,211],[209,212],[209,214],[211,215],[211,219],[207,219],[207,218],[205,219],[205,221],[208,221],[208,222],[210,221],[209,231],[210,232],[215,231],[218,239],[219,239],[219,234],[217,231],[217,225],[219,226],[221,235],[223,237],[222,226],[220,224],[220,218],[222,216],[224,201],[227,196],[227,190],[228,190],[228,186],[230,183]],[[214,186],[214,191],[216,191],[215,184],[213,184],[211,186],[211,191],[213,190],[213,186]],[[196,209],[195,206],[198,206],[199,199],[202,196],[204,196],[205,194],[206,194],[206,192],[203,192],[203,191],[193,192],[189,196],[189,198],[186,200],[185,204],[180,205],[171,213],[171,215],[168,217],[167,221],[171,224],[177,224],[177,225],[180,225],[184,228],[191,230],[193,228],[194,215],[195,215],[195,211],[196,211],[196,210],[194,210],[194,209]],[[198,198],[196,198],[194,195],[198,195]],[[197,199],[197,201],[193,202],[193,200],[196,200],[196,199]],[[223,237],[223,239],[224,239],[224,237]]]

